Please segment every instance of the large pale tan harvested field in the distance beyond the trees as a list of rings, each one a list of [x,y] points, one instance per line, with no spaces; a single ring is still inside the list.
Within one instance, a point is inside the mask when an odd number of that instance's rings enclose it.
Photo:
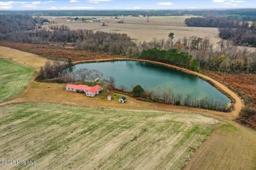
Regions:
[[[149,22],[147,17],[124,17],[120,19],[113,19],[111,17],[93,16],[99,18],[100,22],[70,22],[67,21],[68,16],[57,17],[51,19],[51,16],[43,16],[49,20],[57,21],[58,25],[67,25],[70,29],[90,29],[95,31],[104,32],[117,32],[127,33],[132,39],[140,41],[150,41],[153,38],[167,39],[170,32],[174,33],[175,39],[183,38],[185,36],[197,36],[205,37],[209,36],[214,43],[220,41],[218,37],[218,28],[204,28],[204,27],[187,27],[185,24],[186,18],[191,16],[150,16]],[[80,16],[90,18],[89,16]],[[124,23],[118,23],[123,20]],[[106,23],[105,27],[102,27],[102,22]],[[47,25],[45,25],[47,28]]]

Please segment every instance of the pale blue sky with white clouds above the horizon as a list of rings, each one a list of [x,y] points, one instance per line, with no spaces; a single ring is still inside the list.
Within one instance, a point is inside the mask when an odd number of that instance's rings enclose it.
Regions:
[[[172,10],[212,8],[256,8],[256,0],[0,1],[0,10]]]

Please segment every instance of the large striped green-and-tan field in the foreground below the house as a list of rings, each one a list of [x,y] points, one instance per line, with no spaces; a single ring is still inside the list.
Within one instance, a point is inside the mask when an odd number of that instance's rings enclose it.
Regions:
[[[50,103],[0,107],[0,169],[181,169],[217,120]]]

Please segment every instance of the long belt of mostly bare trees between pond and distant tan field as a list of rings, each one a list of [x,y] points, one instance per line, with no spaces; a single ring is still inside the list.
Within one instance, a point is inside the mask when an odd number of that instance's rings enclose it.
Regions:
[[[229,73],[255,73],[256,71],[256,54],[250,53],[247,48],[238,49],[237,43],[230,40],[220,41],[219,50],[213,49],[210,38],[191,36],[174,41],[173,33],[166,35],[166,38],[169,37],[167,40],[153,39],[135,44],[129,36],[120,33],[70,30],[65,25],[54,27],[53,30],[34,29],[32,25],[37,23],[37,20],[29,15],[1,15],[0,40],[29,44],[57,43],[65,45],[69,43],[74,45],[77,50],[143,58],[196,71],[199,69]],[[17,26],[17,29],[12,29],[13,25],[9,25],[12,21],[15,25],[20,26]],[[241,27],[247,28],[245,25],[241,25]],[[245,36],[246,33],[243,35]]]

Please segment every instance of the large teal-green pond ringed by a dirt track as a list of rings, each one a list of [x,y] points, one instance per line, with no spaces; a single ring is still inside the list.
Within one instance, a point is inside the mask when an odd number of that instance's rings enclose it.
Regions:
[[[209,82],[194,75],[166,67],[159,64],[137,61],[114,61],[100,63],[84,63],[75,65],[78,69],[97,69],[103,77],[116,78],[116,88],[124,85],[128,90],[139,84],[147,90],[157,88],[172,89],[173,94],[182,96],[192,95],[197,99],[210,98],[223,103],[230,103],[230,99],[222,94]]]

